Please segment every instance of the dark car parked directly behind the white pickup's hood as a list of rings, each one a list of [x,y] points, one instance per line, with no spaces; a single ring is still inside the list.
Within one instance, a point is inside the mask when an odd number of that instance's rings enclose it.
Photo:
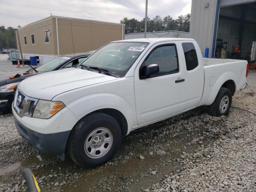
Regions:
[[[70,67],[76,67],[84,61],[91,52],[68,54],[50,60],[42,66],[29,71],[22,71],[14,74],[6,74],[0,77],[0,111],[11,112],[11,105],[14,99],[14,88],[24,79],[41,74]],[[41,82],[42,83],[42,82]],[[40,84],[40,82],[35,82]]]

